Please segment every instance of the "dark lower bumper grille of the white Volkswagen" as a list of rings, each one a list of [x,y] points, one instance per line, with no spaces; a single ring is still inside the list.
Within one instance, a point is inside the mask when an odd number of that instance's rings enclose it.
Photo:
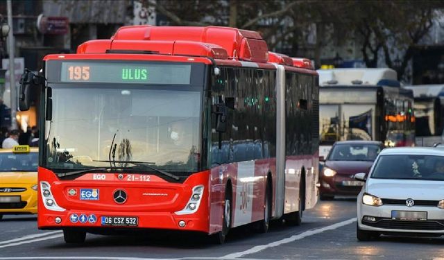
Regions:
[[[371,227],[379,227],[384,229],[444,230],[444,223],[436,220],[402,221],[384,219],[375,223],[366,221],[363,221],[363,223]]]

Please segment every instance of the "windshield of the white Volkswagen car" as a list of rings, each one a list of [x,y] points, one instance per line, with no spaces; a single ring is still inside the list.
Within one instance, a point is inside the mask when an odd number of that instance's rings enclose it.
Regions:
[[[382,155],[371,174],[379,179],[444,180],[444,156]]]

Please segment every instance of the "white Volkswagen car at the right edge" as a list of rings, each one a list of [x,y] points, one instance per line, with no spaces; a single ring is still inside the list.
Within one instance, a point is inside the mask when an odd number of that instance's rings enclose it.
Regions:
[[[444,150],[388,148],[379,153],[357,198],[357,239],[380,234],[444,234]]]

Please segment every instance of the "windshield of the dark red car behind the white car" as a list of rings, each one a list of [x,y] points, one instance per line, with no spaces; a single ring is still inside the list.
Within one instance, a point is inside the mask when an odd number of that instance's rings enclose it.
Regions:
[[[330,161],[374,161],[381,151],[375,144],[336,144],[327,157]]]

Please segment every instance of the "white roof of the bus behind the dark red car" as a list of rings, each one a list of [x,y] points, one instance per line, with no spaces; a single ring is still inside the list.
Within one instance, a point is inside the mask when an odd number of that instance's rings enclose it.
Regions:
[[[400,87],[396,71],[387,68],[318,69],[319,86]]]

